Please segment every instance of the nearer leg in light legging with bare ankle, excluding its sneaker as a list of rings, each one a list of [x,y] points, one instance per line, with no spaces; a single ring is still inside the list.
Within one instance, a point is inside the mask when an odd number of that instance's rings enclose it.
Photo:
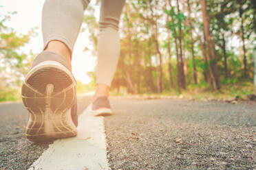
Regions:
[[[43,5],[43,49],[56,51],[69,63],[89,0],[46,0]]]

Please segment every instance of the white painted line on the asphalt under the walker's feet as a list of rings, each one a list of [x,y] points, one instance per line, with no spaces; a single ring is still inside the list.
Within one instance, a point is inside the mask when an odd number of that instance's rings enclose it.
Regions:
[[[93,117],[89,106],[78,119],[78,135],[58,139],[29,170],[109,169],[103,117]]]

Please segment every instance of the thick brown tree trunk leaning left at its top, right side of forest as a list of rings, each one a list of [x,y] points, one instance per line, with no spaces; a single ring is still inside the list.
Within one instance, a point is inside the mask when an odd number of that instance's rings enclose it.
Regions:
[[[209,16],[206,11],[206,1],[205,0],[200,0],[201,4],[201,9],[202,9],[202,16],[203,16],[203,22],[204,22],[204,34],[206,36],[206,42],[207,42],[207,47],[209,49],[209,57],[211,59],[210,61],[210,66],[211,70],[213,71],[213,77],[214,77],[214,82],[216,87],[215,89],[220,89],[221,84],[220,84],[220,74],[217,69],[217,60],[215,57],[215,47],[213,44],[213,40],[211,38],[211,32],[210,32],[210,25],[209,25]]]

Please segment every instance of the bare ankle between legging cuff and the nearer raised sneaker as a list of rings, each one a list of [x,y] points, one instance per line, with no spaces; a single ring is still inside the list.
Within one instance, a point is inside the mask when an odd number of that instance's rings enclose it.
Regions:
[[[51,40],[45,48],[45,51],[54,51],[60,54],[63,56],[63,58],[65,58],[68,64],[71,65],[71,51],[63,42],[58,40]]]

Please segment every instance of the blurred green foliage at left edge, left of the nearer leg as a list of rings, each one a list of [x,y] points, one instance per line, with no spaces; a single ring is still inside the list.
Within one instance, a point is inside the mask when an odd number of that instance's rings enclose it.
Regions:
[[[21,99],[19,88],[32,62],[20,47],[28,43],[33,31],[18,35],[7,27],[5,22],[10,21],[13,14],[16,12],[0,15],[0,101]]]

